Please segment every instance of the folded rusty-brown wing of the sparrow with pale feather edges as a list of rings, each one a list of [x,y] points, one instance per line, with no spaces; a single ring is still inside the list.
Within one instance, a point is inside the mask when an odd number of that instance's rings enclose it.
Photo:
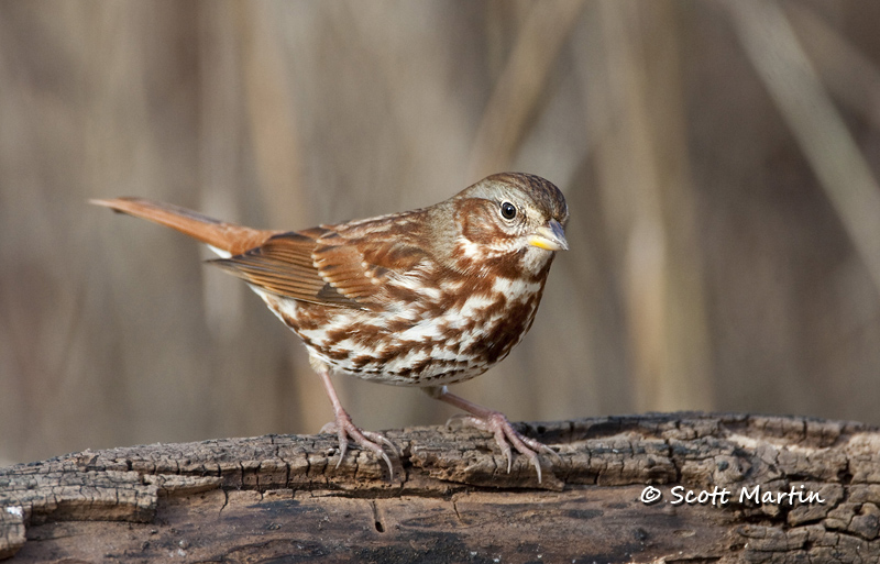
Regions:
[[[377,218],[282,233],[246,253],[211,263],[279,296],[322,306],[377,309],[382,306],[375,298],[388,277],[404,275],[427,258],[411,231],[371,229],[387,221]]]

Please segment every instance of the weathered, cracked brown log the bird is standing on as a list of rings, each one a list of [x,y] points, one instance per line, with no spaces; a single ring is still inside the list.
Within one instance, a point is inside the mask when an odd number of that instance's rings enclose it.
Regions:
[[[880,560],[876,428],[701,413],[524,427],[560,454],[543,460],[540,485],[522,456],[508,474],[484,433],[443,428],[387,433],[402,453],[392,480],[381,461],[353,449],[337,467],[330,435],[86,451],[0,468],[0,557]],[[660,500],[642,502],[648,485]],[[740,500],[756,486],[773,502]],[[713,504],[716,487],[730,494]],[[705,502],[673,504],[686,490],[705,491]]]

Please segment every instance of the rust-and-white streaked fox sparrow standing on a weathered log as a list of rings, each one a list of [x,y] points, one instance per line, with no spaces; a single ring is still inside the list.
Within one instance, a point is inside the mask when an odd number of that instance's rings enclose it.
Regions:
[[[566,250],[565,199],[543,178],[490,176],[435,206],[302,231],[263,231],[141,198],[92,203],[186,233],[243,278],[306,344],[336,413],[340,462],[349,440],[392,464],[378,433],[352,423],[330,373],[417,386],[510,445],[541,479],[538,452],[507,418],[450,394],[479,376],[531,327],[556,251]]]

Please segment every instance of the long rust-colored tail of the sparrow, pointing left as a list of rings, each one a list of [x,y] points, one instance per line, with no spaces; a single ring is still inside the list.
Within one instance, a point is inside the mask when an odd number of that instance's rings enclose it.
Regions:
[[[175,229],[194,239],[207,243],[232,255],[240,255],[280,233],[251,229],[234,223],[223,223],[199,212],[144,198],[113,198],[112,200],[89,200],[96,206],[143,218]]]

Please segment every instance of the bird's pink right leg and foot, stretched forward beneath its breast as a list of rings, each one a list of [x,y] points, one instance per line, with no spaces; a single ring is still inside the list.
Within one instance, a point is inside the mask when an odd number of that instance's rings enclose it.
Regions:
[[[446,401],[451,406],[455,406],[459,409],[468,411],[471,413],[471,416],[463,417],[463,421],[476,427],[477,429],[488,431],[494,434],[495,442],[498,443],[502,453],[504,453],[504,456],[507,458],[508,474],[510,473],[510,465],[513,462],[510,453],[512,444],[517,452],[526,455],[531,462],[531,465],[535,466],[535,469],[538,472],[538,484],[541,483],[541,462],[538,458],[538,453],[542,452],[544,454],[551,454],[559,458],[559,454],[557,454],[556,451],[546,444],[520,434],[516,429],[514,429],[514,427],[510,424],[510,421],[508,421],[501,411],[477,406],[476,403],[468,401],[461,396],[450,394],[446,386],[425,388],[425,391],[435,399]]]

